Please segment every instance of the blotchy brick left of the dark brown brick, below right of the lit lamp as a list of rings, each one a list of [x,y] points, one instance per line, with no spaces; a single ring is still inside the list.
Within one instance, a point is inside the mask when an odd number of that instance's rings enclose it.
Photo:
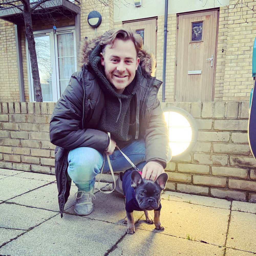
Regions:
[[[200,164],[227,165],[226,155],[207,155],[194,153],[194,161]]]

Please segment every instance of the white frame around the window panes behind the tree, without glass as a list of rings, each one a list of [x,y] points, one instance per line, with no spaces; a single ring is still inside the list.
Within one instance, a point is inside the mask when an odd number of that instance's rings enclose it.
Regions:
[[[73,33],[73,38],[74,38],[74,63],[75,63],[75,71],[77,71],[76,31],[74,26],[57,28],[56,33],[53,32],[53,29],[44,29],[44,30],[39,30],[34,32],[35,37],[46,36],[46,35],[49,35],[50,37],[50,56],[51,56],[51,68],[52,68],[52,102],[57,102],[61,96],[60,82],[59,82],[59,58],[58,58],[57,35],[67,34],[70,32]],[[28,84],[29,84],[28,86],[29,101],[35,102],[36,100],[35,100],[35,94],[34,94],[34,84],[33,84],[32,72],[31,72],[27,39],[26,39],[26,56],[27,56],[27,72],[28,72]]]

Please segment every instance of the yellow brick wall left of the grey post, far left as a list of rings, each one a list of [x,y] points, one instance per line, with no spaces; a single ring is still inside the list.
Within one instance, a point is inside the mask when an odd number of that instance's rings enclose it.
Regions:
[[[0,101],[19,101],[15,27],[0,20]]]

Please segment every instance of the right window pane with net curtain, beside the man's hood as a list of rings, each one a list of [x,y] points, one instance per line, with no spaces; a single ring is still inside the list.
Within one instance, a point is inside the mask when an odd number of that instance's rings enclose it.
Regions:
[[[60,94],[68,85],[75,72],[74,36],[73,33],[57,35]]]

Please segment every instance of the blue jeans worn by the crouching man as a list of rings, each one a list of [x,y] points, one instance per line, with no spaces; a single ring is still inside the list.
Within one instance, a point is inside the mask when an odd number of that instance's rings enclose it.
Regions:
[[[134,140],[122,148],[137,168],[142,170],[146,164],[145,142],[143,139]],[[169,152],[171,152],[169,150]],[[109,156],[114,172],[122,172],[131,169],[131,164],[125,159],[119,150]],[[171,156],[169,157],[171,159]],[[105,161],[105,163],[104,163]],[[106,154],[91,147],[78,147],[69,151],[68,154],[68,175],[78,187],[78,190],[93,191],[95,176],[101,172],[110,171]]]

